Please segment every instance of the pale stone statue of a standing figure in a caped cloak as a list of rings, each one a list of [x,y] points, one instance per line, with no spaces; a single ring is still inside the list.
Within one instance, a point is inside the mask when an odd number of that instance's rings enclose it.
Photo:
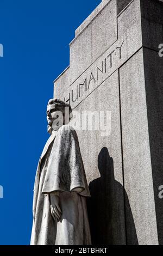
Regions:
[[[72,110],[52,99],[47,106],[51,134],[37,167],[31,245],[91,245],[86,197],[90,197],[77,133],[66,124]],[[62,121],[58,121],[58,114]]]

